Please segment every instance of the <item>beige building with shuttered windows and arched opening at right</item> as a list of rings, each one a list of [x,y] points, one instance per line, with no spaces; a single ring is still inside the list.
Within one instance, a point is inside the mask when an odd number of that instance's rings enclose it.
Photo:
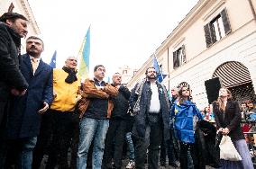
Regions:
[[[156,49],[168,88],[187,84],[193,102],[206,107],[220,85],[238,101],[256,101],[256,1],[199,0]],[[171,16],[170,16],[171,17]],[[127,84],[152,66],[151,56]]]

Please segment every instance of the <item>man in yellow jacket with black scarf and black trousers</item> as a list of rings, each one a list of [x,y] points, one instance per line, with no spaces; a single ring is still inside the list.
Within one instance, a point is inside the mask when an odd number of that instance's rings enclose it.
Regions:
[[[65,61],[64,67],[53,70],[54,100],[48,112],[48,120],[42,124],[47,126],[47,129],[41,129],[41,132],[45,133],[41,134],[48,136],[41,137],[42,140],[39,141],[40,145],[37,145],[38,149],[34,151],[33,168],[39,168],[41,165],[41,159],[45,149],[41,147],[45,147],[43,145],[49,141],[50,132],[52,133],[52,140],[50,141],[47,167],[54,168],[58,161],[59,168],[68,168],[68,149],[71,138],[74,135],[78,136],[79,131],[79,118],[75,112],[75,106],[80,98],[79,88],[81,80],[77,75],[77,66],[77,58],[69,57]],[[72,148],[72,150],[74,149],[77,148]],[[71,165],[76,165],[77,152],[75,151],[72,152]]]

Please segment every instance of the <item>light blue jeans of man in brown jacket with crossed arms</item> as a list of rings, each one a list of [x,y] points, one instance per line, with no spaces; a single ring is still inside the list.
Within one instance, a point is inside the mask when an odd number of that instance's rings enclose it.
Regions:
[[[83,118],[80,121],[80,136],[78,144],[78,169],[87,168],[87,155],[93,138],[93,169],[101,169],[105,148],[105,134],[109,126],[109,120],[96,120]]]

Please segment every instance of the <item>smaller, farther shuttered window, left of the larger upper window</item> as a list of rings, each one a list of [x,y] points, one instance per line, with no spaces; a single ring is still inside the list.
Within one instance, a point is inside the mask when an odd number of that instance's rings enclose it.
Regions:
[[[185,54],[185,45],[182,45],[179,49],[173,52],[173,68],[180,67],[187,62]]]

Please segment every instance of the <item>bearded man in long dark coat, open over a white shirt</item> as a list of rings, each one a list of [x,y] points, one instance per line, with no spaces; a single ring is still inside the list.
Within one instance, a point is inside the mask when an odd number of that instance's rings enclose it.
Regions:
[[[157,169],[162,135],[169,139],[169,97],[166,87],[156,80],[154,67],[146,70],[146,77],[136,84],[131,94],[135,122],[133,138],[135,141],[136,168],[145,168],[147,148],[149,149],[149,169]]]

